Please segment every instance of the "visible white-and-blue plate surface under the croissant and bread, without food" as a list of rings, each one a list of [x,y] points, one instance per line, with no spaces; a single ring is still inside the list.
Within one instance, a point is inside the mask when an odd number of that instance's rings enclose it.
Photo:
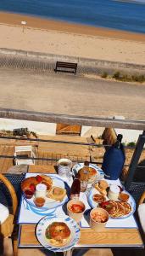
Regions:
[[[69,186],[66,183],[64,183],[64,180],[62,180],[60,177],[54,177],[51,174],[49,174],[47,176],[49,176],[53,179],[53,186],[56,186],[56,187],[59,187],[59,188],[62,188],[62,189],[66,189],[66,192],[69,191]],[[24,198],[25,198],[25,195],[24,195]],[[25,201],[27,201],[27,203],[30,204],[31,207],[36,208],[38,212],[43,212],[43,211],[47,211],[48,209],[53,209],[53,208],[56,208],[56,207],[60,207],[60,206],[64,205],[64,203],[66,201],[69,200],[68,195],[66,193],[66,195],[64,196],[63,201],[55,201],[53,199],[46,198],[46,201],[45,201],[45,204],[44,204],[43,207],[36,207],[36,205],[34,203],[34,198],[35,198],[35,196],[33,195],[31,199],[25,198]]]

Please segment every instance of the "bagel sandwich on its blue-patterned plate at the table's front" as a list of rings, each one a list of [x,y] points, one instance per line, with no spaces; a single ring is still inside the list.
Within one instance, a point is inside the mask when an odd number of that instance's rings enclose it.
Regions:
[[[48,218],[36,225],[36,237],[43,247],[55,253],[70,250],[79,241],[81,232],[73,218]]]

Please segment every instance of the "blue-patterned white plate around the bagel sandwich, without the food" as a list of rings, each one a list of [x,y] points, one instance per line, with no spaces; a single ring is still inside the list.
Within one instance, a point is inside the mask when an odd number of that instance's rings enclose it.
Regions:
[[[47,237],[45,236],[47,226],[49,224],[52,224],[53,222],[64,222],[70,228],[70,231],[71,231],[70,241],[63,247],[53,247],[47,240]],[[64,252],[64,251],[70,250],[79,241],[80,235],[81,235],[81,232],[78,225],[76,224],[75,220],[73,218],[70,218],[69,216],[66,216],[65,218],[52,218],[52,219],[45,216],[38,222],[36,226],[37,240],[42,244],[43,247],[53,252]]]

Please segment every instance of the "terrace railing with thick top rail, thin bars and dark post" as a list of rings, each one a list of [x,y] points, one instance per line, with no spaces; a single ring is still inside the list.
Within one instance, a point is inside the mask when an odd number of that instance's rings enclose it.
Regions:
[[[138,166],[138,160],[142,154],[143,145],[145,143],[145,121],[144,120],[131,120],[131,119],[113,119],[113,118],[100,118],[100,117],[86,117],[86,116],[70,116],[56,113],[37,113],[24,110],[4,109],[0,108],[0,118],[7,119],[25,119],[38,122],[49,122],[49,123],[64,123],[70,125],[89,125],[96,127],[112,127],[132,130],[142,130],[143,133],[138,137],[137,145],[134,148],[134,154],[131,159],[131,165],[129,166],[128,176],[125,181],[125,188],[130,189],[133,181],[134,173]],[[4,137],[3,137],[4,138]],[[82,146],[92,147],[105,147],[110,145],[103,145],[97,143],[77,143],[77,142],[64,142],[64,141],[53,141],[45,139],[31,139],[31,138],[18,138],[18,137],[5,137],[7,139],[27,140],[31,142],[48,142],[48,143],[69,143]],[[125,147],[131,148],[131,147]],[[0,155],[0,158],[14,158],[14,156]],[[36,160],[44,160],[45,158],[35,158]],[[45,160],[56,160],[47,158]],[[98,162],[97,162],[98,163]],[[99,162],[98,164],[101,164]],[[145,183],[144,183],[145,184]]]

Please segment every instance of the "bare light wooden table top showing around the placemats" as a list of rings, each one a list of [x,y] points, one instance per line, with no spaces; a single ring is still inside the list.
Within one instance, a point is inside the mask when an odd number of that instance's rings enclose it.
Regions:
[[[54,166],[30,166],[28,172],[56,173]],[[38,169],[37,169],[38,168]],[[36,224],[20,225],[20,247],[40,247],[35,235]],[[111,229],[95,232],[90,228],[81,229],[81,238],[75,247],[143,247],[142,238],[137,229]]]

